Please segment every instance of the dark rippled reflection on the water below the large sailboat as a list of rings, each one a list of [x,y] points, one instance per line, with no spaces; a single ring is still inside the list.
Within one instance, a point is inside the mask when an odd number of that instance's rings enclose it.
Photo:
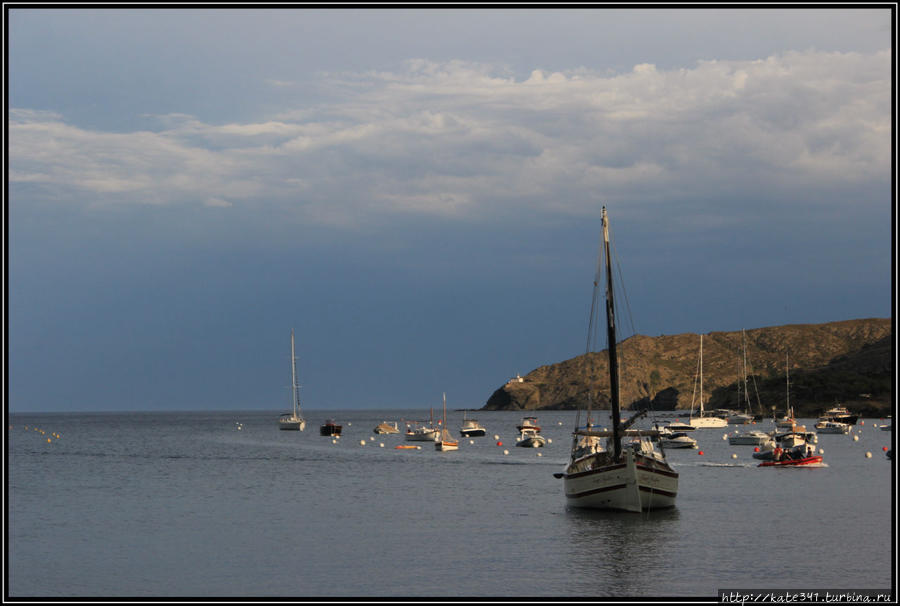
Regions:
[[[666,596],[667,536],[677,536],[677,507],[630,513],[566,509],[573,595]]]

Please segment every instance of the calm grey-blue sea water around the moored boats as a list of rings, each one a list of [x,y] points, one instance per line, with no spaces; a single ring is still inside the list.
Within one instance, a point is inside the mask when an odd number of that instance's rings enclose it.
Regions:
[[[629,514],[566,508],[552,474],[574,413],[539,413],[552,442],[525,449],[521,413],[478,412],[488,436],[441,453],[372,432],[427,410],[308,411],[299,433],[280,412],[10,415],[9,597],[712,599],[894,581],[880,419],[858,441],[820,436],[821,469],[761,469],[727,430],[699,430],[702,456],[668,451],[677,507]]]

